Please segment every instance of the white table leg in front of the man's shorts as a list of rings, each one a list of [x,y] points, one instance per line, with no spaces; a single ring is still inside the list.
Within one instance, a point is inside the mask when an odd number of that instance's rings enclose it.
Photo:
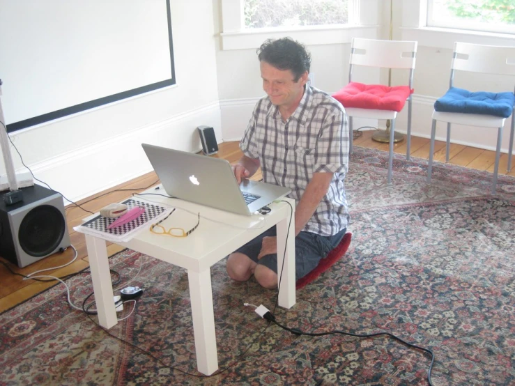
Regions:
[[[289,224],[290,216],[277,223],[277,272],[280,278],[277,303],[284,308],[291,308],[295,304],[295,219],[291,219],[288,233]],[[286,255],[284,247],[286,247]],[[283,256],[285,256],[284,265]]]

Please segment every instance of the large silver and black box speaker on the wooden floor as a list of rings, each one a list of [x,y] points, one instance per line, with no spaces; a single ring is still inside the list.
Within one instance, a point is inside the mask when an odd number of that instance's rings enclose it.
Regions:
[[[22,201],[0,200],[0,256],[21,268],[69,247],[70,235],[61,194],[40,185],[20,190]]]

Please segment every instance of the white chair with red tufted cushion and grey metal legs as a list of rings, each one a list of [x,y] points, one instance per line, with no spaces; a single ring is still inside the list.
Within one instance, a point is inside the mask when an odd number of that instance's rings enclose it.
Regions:
[[[352,152],[353,117],[390,120],[390,157],[388,183],[392,183],[395,118],[408,101],[408,134],[406,159],[410,159],[411,94],[413,70],[417,54],[417,42],[400,40],[371,40],[353,38],[348,84],[332,95],[345,107],[349,121],[349,152]],[[401,68],[410,70],[404,86],[384,86],[353,82],[353,67],[365,65],[377,68]]]

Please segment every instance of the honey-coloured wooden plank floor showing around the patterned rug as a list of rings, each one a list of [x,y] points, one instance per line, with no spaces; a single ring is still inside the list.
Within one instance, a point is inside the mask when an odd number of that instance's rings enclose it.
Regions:
[[[374,131],[364,131],[362,135],[354,140],[355,146],[362,146],[365,148],[378,148],[379,150],[388,151],[388,144],[381,144],[371,139]],[[220,150],[214,157],[221,157],[229,162],[234,163],[238,161],[241,156],[238,148],[238,142],[225,142],[220,144]],[[406,140],[401,141],[394,146],[396,153],[406,153]],[[420,137],[412,137],[411,139],[411,155],[413,157],[428,158],[429,157],[429,139]],[[502,154],[500,158],[500,174],[506,174],[507,167],[507,155]],[[445,161],[445,142],[437,141],[435,144],[435,160],[444,162]],[[471,148],[462,145],[452,145],[450,148],[450,160],[449,163],[460,165],[463,167],[470,167],[472,169],[493,171],[493,163],[495,161],[495,152],[491,150],[482,150],[479,148]],[[513,160],[512,162],[515,162]],[[515,167],[509,176],[515,176]],[[259,178],[259,176],[256,176]],[[90,210],[95,213],[109,203],[119,202],[132,196],[133,192],[141,192],[142,190],[156,185],[158,183],[157,176],[155,173],[148,173],[134,180],[130,180],[127,183],[113,187],[111,190],[100,192],[91,196],[87,199],[79,201],[79,205],[86,210]],[[120,191],[123,189],[124,191]],[[73,272],[78,272],[89,266],[88,256],[86,254],[86,244],[84,235],[77,233],[73,230],[74,226],[77,226],[82,222],[84,217],[89,216],[90,213],[77,208],[76,206],[69,205],[66,207],[66,219],[68,222],[68,231],[70,233],[70,240],[72,245],[77,249],[77,259],[74,263],[60,268],[58,270],[51,270],[48,272],[42,272],[41,275],[53,275],[56,277],[63,277]],[[112,255],[122,248],[118,245],[109,245],[108,255]],[[19,273],[21,275],[29,275],[37,270],[45,268],[57,267],[68,263],[75,252],[72,248],[68,248],[62,254],[54,254],[43,258],[42,260],[33,263],[25,268],[18,268],[16,265],[9,263],[8,261],[0,258],[0,261],[6,263],[10,270]],[[6,266],[0,264],[0,312],[5,311],[16,304],[23,302],[31,296],[43,291],[45,288],[53,285],[54,283],[40,283],[33,280],[24,280],[22,277],[13,275]]]

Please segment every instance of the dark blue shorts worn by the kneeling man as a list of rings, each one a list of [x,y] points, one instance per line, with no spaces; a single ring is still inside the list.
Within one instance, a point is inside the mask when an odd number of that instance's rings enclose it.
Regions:
[[[346,229],[340,231],[335,236],[320,236],[311,232],[300,232],[295,237],[295,280],[304,277],[316,268],[322,258],[328,256],[332,249],[335,249],[342,238]],[[235,252],[245,254],[258,264],[265,265],[270,270],[277,273],[277,254],[268,254],[258,260],[257,256],[261,251],[262,240],[266,236],[276,236],[275,226],[261,233],[260,236],[250,240],[243,247]]]

